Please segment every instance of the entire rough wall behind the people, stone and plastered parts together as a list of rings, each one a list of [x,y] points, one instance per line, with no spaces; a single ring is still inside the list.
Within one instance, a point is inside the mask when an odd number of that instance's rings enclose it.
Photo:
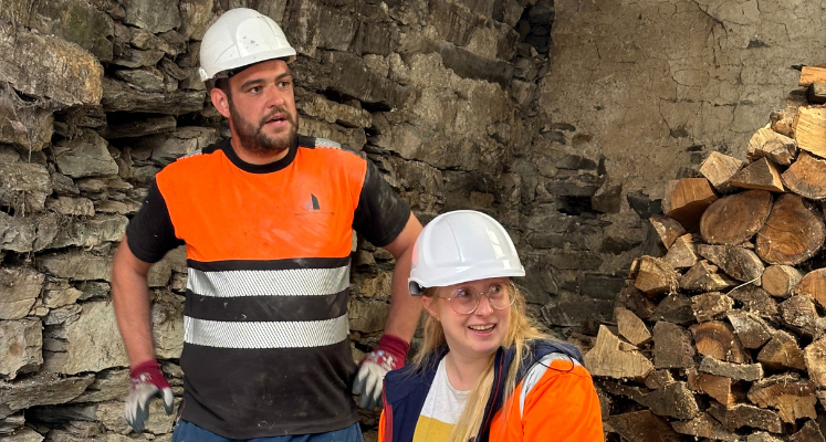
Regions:
[[[822,8],[798,3],[7,1],[0,334],[17,338],[1,340],[0,397],[19,408],[0,400],[0,434],[128,438],[112,254],[155,173],[229,135],[197,75],[226,8],[268,14],[299,51],[302,134],[364,151],[422,222],[457,209],[499,219],[527,267],[532,315],[583,337],[611,320],[632,257],[658,246],[645,220],[661,211],[662,182],[696,173],[710,150],[742,150],[784,97],[788,66],[826,59]],[[380,334],[393,256],[356,242],[358,359]],[[149,274],[178,393],[185,255]],[[157,440],[170,422],[153,423]]]

